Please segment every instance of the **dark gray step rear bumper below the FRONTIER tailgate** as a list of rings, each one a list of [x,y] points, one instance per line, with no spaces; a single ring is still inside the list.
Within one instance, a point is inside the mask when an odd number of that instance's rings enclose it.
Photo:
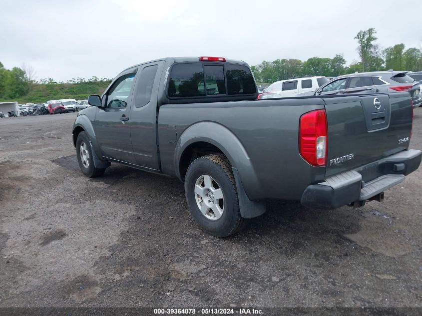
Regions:
[[[358,169],[346,171],[308,186],[301,203],[308,207],[334,209],[354,202],[366,201],[401,183],[405,176],[421,164],[420,150],[404,150]],[[362,180],[362,174],[376,172],[377,178]]]

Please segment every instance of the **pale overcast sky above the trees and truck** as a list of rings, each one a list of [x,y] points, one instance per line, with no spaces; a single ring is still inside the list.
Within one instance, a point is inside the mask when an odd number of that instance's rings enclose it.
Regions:
[[[382,48],[421,48],[420,1],[0,0],[0,61],[37,78],[112,78],[167,56],[263,60],[343,53],[375,27]]]

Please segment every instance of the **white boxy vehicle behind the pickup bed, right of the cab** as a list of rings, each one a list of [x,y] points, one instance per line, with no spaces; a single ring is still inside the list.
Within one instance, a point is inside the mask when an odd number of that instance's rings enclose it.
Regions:
[[[327,82],[328,80],[324,76],[281,80],[272,83],[265,89],[265,92],[278,93],[282,98],[287,98],[299,93],[315,91]]]

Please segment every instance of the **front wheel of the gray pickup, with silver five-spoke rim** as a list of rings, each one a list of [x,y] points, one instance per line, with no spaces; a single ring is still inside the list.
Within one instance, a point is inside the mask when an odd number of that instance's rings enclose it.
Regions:
[[[80,132],[78,135],[76,140],[76,156],[79,168],[85,176],[95,178],[104,174],[105,168],[95,168],[94,166],[92,149],[86,132]]]

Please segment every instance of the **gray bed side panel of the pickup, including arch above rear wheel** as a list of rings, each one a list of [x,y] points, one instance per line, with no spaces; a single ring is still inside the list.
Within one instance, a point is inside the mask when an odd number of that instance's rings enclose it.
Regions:
[[[277,99],[164,105],[158,118],[162,171],[183,179],[180,156],[188,146],[207,142],[229,158],[251,200],[300,199],[309,183],[324,179],[325,167],[312,167],[299,155],[298,124],[302,114],[323,109],[322,99]],[[189,128],[194,139],[184,139]],[[228,131],[229,134],[226,132]],[[236,155],[234,143],[244,148]]]

